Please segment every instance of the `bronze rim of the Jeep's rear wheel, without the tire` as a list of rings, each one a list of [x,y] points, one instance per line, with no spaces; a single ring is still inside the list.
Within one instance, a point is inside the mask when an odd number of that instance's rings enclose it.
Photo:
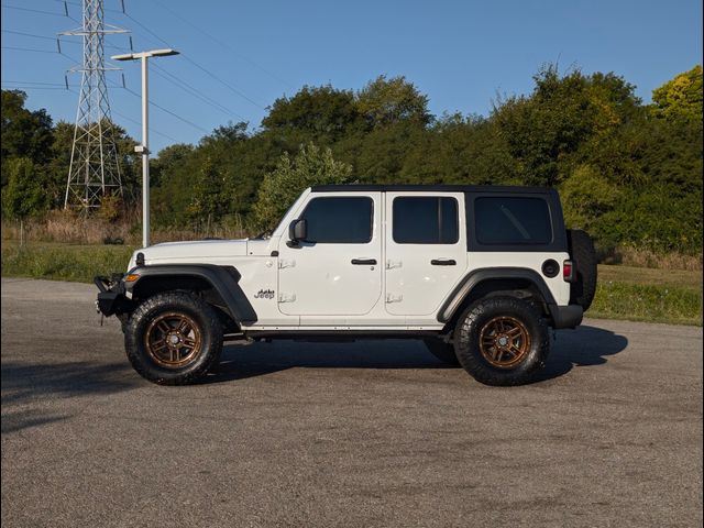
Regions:
[[[513,369],[530,351],[530,333],[513,317],[495,317],[480,332],[480,351],[484,359],[499,369]]]

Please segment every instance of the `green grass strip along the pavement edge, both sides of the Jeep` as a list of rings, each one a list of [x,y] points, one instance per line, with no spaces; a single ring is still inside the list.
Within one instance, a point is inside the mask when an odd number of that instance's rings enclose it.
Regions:
[[[92,282],[125,271],[134,248],[2,241],[2,276]],[[600,265],[587,317],[702,326],[702,272]]]

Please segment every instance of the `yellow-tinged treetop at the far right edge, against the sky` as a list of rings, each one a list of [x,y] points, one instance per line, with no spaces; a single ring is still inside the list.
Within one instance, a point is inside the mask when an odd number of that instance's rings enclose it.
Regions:
[[[702,121],[702,66],[676,75],[652,90],[652,113],[658,118]]]

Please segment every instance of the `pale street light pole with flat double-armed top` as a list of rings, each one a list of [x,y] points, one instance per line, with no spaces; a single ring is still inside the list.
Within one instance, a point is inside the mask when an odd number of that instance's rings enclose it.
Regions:
[[[162,57],[167,55],[178,55],[175,50],[152,50],[151,52],[128,53],[124,55],[113,55],[113,61],[136,61],[142,62],[142,144],[134,147],[134,151],[142,154],[142,246],[150,245],[150,94],[148,94],[148,59],[150,57]]]

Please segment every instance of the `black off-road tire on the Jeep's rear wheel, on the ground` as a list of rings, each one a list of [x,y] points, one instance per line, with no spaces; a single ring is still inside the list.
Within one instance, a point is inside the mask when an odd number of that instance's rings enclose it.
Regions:
[[[497,366],[492,364],[483,352],[486,351],[486,346],[482,349],[481,340],[493,339],[487,331],[498,324],[498,321],[514,321],[520,330],[516,343],[521,343],[521,353],[516,354],[518,360],[515,364]],[[510,324],[512,322],[508,327]],[[454,330],[454,351],[460,364],[477,382],[498,386],[522,385],[530,382],[532,374],[544,366],[550,352],[548,324],[529,302],[516,297],[480,299],[472,304],[458,321]],[[508,355],[509,352],[501,354]]]

